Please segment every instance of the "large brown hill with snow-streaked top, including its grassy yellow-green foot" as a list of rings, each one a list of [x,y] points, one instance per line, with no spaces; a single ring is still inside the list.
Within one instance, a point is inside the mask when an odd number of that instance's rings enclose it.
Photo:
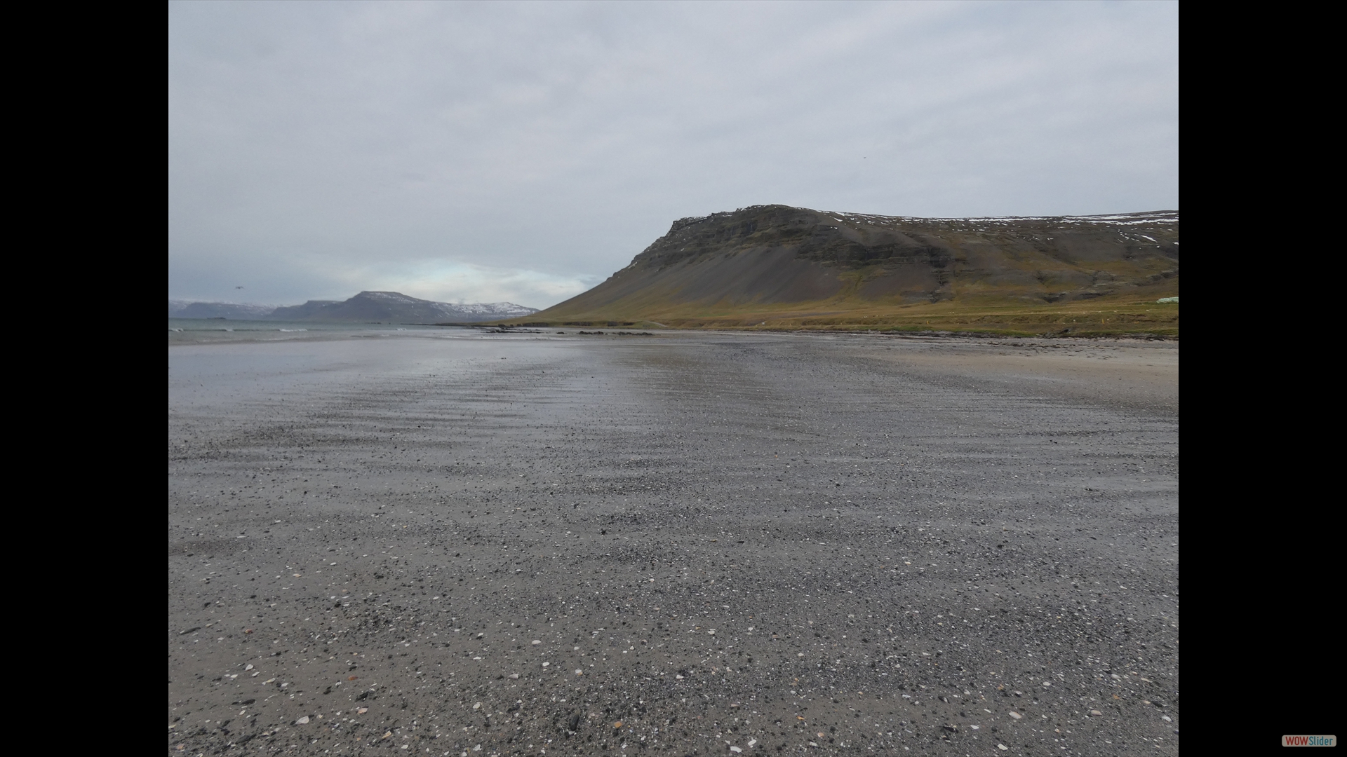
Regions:
[[[1177,304],[1156,299],[1177,294],[1176,211],[904,218],[766,205],[675,221],[602,284],[520,321],[1172,333]]]

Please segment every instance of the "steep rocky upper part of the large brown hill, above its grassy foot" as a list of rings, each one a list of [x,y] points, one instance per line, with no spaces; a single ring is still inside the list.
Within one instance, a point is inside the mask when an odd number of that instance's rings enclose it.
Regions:
[[[680,303],[1043,303],[1176,284],[1177,275],[1177,211],[908,218],[765,205],[680,218],[609,280],[539,315],[638,317]]]

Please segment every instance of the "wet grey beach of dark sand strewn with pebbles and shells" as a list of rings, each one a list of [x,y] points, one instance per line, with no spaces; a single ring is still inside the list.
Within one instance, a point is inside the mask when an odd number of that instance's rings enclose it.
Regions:
[[[1173,342],[168,365],[171,754],[1177,753]]]

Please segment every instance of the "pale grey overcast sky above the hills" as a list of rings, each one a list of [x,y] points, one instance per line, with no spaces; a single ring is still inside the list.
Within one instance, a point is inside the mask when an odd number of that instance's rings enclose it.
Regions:
[[[765,203],[1177,209],[1179,7],[168,7],[171,298],[547,307]]]

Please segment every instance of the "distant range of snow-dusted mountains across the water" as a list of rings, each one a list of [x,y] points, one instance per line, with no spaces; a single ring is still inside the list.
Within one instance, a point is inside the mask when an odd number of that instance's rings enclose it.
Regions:
[[[348,300],[311,299],[294,306],[252,306],[168,300],[170,318],[230,318],[238,321],[346,321],[380,323],[473,323],[537,312],[509,302],[451,304],[399,292],[360,292]]]

